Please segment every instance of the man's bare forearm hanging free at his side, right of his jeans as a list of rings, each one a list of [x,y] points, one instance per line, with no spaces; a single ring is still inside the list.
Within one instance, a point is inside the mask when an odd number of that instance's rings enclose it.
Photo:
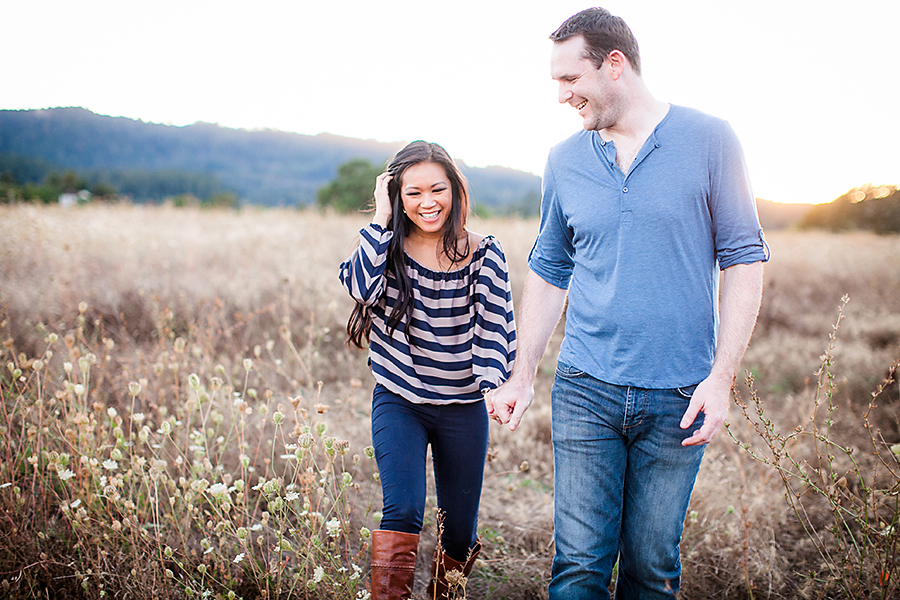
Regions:
[[[712,371],[694,391],[691,403],[681,418],[681,428],[690,427],[700,411],[703,411],[705,420],[700,429],[682,442],[684,446],[709,443],[725,422],[731,401],[731,386],[759,314],[762,281],[762,262],[738,264],[725,269],[719,337]]]

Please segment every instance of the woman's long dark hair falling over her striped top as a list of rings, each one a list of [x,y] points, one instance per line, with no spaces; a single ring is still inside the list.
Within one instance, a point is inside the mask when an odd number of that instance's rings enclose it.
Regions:
[[[400,152],[388,164],[387,171],[391,174],[388,182],[388,196],[391,199],[391,222],[388,229],[394,232],[388,246],[387,276],[397,280],[400,290],[399,297],[391,309],[387,325],[389,334],[404,321],[409,326],[413,312],[412,282],[406,274],[404,262],[403,243],[411,229],[409,217],[403,212],[403,199],[400,189],[403,184],[403,174],[414,165],[430,162],[444,168],[447,179],[450,181],[450,189],[453,192],[453,202],[450,206],[450,216],[444,222],[441,231],[441,249],[444,256],[455,264],[465,260],[469,255],[469,241],[466,235],[466,243],[460,248],[459,240],[465,235],[466,220],[469,215],[469,192],[466,179],[453,163],[453,159],[438,144],[416,141],[412,142]],[[387,288],[385,287],[385,290]],[[350,344],[357,348],[365,348],[369,343],[372,332],[371,307],[357,303],[347,321],[347,338]],[[406,330],[406,339],[409,341],[409,329]]]

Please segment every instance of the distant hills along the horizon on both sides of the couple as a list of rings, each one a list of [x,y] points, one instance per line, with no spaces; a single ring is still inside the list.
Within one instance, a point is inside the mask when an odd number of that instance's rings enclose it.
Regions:
[[[62,191],[89,189],[95,197],[135,202],[188,198],[226,206],[305,206],[334,184],[342,165],[356,162],[377,172],[402,145],[211,123],[177,127],[78,107],[0,110],[0,201],[52,202]],[[459,162],[478,214],[538,213],[538,176]],[[759,199],[758,207],[769,230],[900,232],[897,185],[866,183],[815,206]]]

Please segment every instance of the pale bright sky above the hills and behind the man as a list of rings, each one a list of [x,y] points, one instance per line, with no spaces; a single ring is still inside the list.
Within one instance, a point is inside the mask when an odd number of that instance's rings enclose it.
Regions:
[[[756,195],[900,184],[897,0],[607,0],[660,100],[727,119]],[[588,2],[0,0],[0,108],[442,144],[540,175],[581,120],[547,36]]]

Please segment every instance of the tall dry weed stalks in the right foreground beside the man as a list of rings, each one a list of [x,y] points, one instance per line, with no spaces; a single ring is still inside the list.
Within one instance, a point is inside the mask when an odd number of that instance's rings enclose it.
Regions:
[[[763,449],[739,440],[730,426],[728,432],[781,478],[787,503],[821,558],[821,568],[809,577],[825,590],[836,587],[847,598],[895,598],[900,593],[900,444],[891,445],[880,431],[873,431],[870,416],[900,362],[891,365],[862,414],[868,447],[855,448],[837,439],[834,349],[847,302],[844,296],[805,419],[791,431],[779,430],[766,416],[748,373],[749,403],[737,391],[735,397]]]

